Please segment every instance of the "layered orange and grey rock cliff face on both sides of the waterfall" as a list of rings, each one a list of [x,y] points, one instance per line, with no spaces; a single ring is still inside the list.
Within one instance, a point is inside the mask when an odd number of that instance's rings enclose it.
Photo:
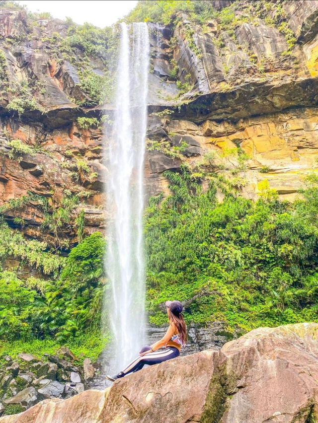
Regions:
[[[202,171],[236,174],[239,193],[252,199],[264,179],[293,199],[316,168],[318,1],[256,3],[214,2],[220,17],[204,25],[182,13],[175,27],[149,24],[147,198],[168,194],[162,172],[182,162],[203,185]],[[30,19],[0,9],[1,213],[28,237],[72,245],[81,210],[86,234],[103,230],[102,137],[110,142],[111,133],[100,119],[111,119],[112,106],[99,105],[96,89],[103,75],[109,82],[116,40],[103,34],[106,53],[85,51],[70,23]],[[246,153],[243,166],[238,151]],[[77,205],[52,229],[36,196],[56,210],[66,190]],[[23,207],[12,203],[22,196]]]

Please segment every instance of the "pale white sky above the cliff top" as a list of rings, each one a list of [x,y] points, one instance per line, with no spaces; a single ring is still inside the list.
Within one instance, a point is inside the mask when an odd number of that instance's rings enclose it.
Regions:
[[[18,0],[30,12],[49,12],[55,18],[72,18],[76,23],[92,23],[104,28],[127,15],[137,0]]]

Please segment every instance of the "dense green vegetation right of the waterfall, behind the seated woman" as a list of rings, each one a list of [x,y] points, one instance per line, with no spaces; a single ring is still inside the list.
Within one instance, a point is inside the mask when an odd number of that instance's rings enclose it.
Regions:
[[[222,319],[242,332],[317,317],[318,178],[303,199],[278,200],[264,184],[260,199],[215,197],[183,168],[165,172],[173,195],[153,198],[146,217],[148,308],[163,324],[158,304],[192,299],[188,322]],[[262,188],[262,187],[260,187]]]

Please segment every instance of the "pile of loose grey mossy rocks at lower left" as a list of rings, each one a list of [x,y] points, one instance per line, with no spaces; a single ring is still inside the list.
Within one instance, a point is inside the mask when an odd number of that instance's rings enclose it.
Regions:
[[[21,352],[16,360],[4,356],[0,368],[0,413],[19,413],[47,398],[70,398],[88,388],[98,363],[79,359],[67,348],[42,359]],[[77,363],[77,364],[76,364]]]

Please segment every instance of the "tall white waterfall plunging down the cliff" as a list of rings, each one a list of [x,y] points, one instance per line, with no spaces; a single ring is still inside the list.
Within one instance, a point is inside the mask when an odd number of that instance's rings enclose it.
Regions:
[[[147,24],[121,24],[115,122],[108,145],[105,300],[113,333],[116,370],[145,343],[143,175],[150,56]]]

